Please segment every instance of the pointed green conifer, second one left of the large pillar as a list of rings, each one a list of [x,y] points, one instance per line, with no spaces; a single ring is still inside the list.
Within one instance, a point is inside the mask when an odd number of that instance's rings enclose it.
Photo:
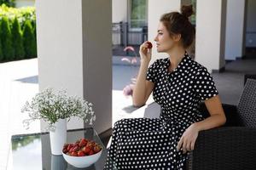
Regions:
[[[13,47],[15,51],[15,59],[23,59],[25,52],[23,47],[23,40],[22,40],[22,32],[20,30],[20,23],[15,18],[12,26],[12,36],[13,36]]]

